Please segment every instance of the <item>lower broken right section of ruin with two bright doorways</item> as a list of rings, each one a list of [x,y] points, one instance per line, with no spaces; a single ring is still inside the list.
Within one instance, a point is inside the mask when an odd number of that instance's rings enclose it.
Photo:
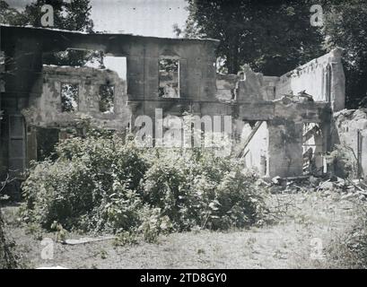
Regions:
[[[250,138],[242,152],[248,167],[260,172],[266,170],[269,176],[296,176],[302,174],[305,161],[309,161],[311,166],[306,172],[323,171],[324,154],[330,148],[331,109],[343,109],[345,105],[341,59],[342,49],[336,48],[280,77],[254,73],[249,66],[238,75],[217,75],[216,98],[236,107],[236,127],[241,127],[241,120],[243,123],[267,121],[249,131]],[[292,96],[301,91],[310,94],[312,100]],[[325,105],[318,109],[319,104]],[[319,126],[312,143],[302,135],[305,123]],[[311,161],[310,144],[313,145]]]

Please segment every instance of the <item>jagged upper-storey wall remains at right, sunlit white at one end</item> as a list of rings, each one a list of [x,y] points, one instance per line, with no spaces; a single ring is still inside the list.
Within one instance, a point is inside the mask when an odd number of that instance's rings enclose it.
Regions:
[[[296,67],[280,77],[254,73],[248,66],[238,75],[217,76],[217,98],[239,101],[280,99],[284,95],[310,94],[315,101],[331,102],[337,111],[345,108],[345,73],[342,48]],[[235,95],[235,96],[234,96]]]

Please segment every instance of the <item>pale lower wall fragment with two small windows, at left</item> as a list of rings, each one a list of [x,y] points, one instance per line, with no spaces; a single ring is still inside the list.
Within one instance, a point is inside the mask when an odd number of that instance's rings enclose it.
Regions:
[[[68,127],[76,127],[83,120],[88,120],[92,126],[118,132],[124,132],[128,126],[131,112],[127,107],[126,82],[116,72],[92,67],[43,65],[42,77],[36,84],[42,86],[42,93],[31,94],[30,108],[22,109],[27,126],[27,162],[49,155],[53,146],[44,144],[54,145]],[[63,84],[77,85],[76,110],[62,110]],[[100,111],[102,85],[114,87],[113,110],[110,112]],[[48,131],[47,142],[39,137],[44,130]]]

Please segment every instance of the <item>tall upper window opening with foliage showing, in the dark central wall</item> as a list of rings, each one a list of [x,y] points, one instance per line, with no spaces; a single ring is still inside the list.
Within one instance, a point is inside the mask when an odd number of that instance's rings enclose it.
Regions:
[[[179,60],[163,58],[159,62],[159,90],[162,98],[179,98]]]

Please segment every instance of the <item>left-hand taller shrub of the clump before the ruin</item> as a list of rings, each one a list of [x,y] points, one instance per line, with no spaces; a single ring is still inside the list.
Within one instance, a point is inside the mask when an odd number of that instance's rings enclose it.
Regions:
[[[22,185],[27,220],[49,228],[118,230],[133,226],[146,165],[134,146],[113,138],[72,138],[55,162],[41,161]]]

